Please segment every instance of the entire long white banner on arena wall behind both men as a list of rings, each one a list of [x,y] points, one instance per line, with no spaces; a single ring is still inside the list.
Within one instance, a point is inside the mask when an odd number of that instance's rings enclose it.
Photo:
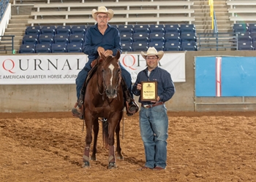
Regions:
[[[87,55],[4,55],[0,56],[0,84],[75,84],[87,63]],[[140,54],[123,54],[120,63],[134,83],[146,68]],[[185,82],[185,53],[166,53],[159,67],[170,72],[173,82]]]

